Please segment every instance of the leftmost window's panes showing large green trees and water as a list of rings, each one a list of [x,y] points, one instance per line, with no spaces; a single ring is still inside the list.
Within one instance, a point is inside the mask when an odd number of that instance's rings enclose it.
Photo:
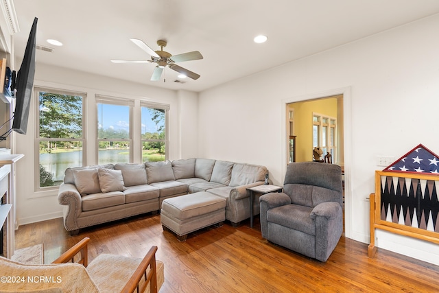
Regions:
[[[62,183],[67,167],[82,166],[84,148],[84,93],[36,87],[37,189]]]

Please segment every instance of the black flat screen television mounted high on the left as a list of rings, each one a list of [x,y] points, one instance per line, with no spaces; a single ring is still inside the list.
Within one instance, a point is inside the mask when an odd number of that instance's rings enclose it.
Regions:
[[[37,22],[38,19],[35,18],[30,30],[29,39],[27,40],[23,62],[16,76],[16,104],[12,130],[21,134],[26,134],[27,131],[29,106],[32,100],[32,88],[34,87]]]

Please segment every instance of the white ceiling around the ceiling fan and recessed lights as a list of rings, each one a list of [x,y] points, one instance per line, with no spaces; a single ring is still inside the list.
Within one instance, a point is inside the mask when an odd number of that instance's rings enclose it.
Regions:
[[[230,80],[337,47],[439,13],[438,0],[14,0],[22,56],[38,17],[36,62],[131,80],[167,89],[203,91]],[[268,41],[253,43],[257,34]],[[62,47],[49,45],[54,38]],[[114,64],[111,59],[150,59],[129,38],[176,55],[198,50],[203,60],[178,65],[201,75],[174,82],[166,69],[151,82],[154,64]]]

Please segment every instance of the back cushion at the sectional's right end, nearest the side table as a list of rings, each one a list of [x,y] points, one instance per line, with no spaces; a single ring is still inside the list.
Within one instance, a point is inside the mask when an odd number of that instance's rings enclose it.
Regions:
[[[267,173],[267,168],[263,166],[235,163],[229,185],[237,187],[263,181]]]

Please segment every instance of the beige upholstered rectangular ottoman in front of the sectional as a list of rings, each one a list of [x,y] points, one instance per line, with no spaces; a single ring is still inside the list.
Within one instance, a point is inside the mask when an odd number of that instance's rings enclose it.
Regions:
[[[176,233],[185,241],[187,234],[226,220],[226,199],[206,191],[163,200],[161,223],[163,230]]]

